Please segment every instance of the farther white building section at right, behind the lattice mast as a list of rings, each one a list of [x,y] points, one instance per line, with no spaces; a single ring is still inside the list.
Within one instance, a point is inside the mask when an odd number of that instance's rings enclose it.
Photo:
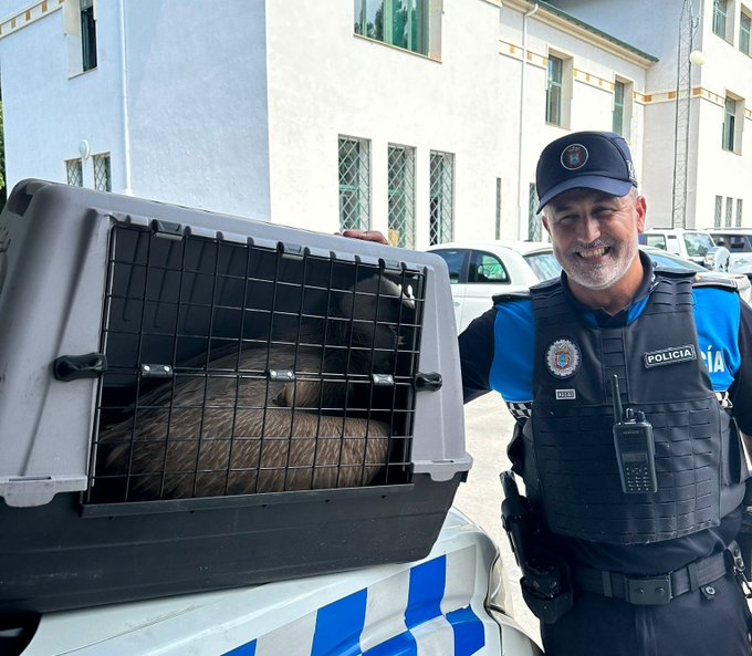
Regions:
[[[647,72],[644,190],[648,225],[670,227],[683,0],[551,0],[658,56]],[[752,226],[752,2],[692,0],[686,226]],[[682,27],[685,31],[682,32]],[[681,135],[679,135],[681,138]]]

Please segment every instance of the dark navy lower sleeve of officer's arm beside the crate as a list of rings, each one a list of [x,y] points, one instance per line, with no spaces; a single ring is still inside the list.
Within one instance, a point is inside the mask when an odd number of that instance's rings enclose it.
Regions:
[[[494,323],[497,309],[491,308],[460,335],[460,366],[462,395],[469,403],[491,391],[489,383],[494,355]]]

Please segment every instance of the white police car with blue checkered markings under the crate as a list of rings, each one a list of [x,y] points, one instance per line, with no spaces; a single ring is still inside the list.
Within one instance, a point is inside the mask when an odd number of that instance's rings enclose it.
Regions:
[[[419,562],[51,613],[35,627],[6,631],[4,638],[0,632],[0,653],[541,654],[506,608],[504,571],[494,543],[452,509],[430,554]],[[11,650],[31,634],[25,649]]]

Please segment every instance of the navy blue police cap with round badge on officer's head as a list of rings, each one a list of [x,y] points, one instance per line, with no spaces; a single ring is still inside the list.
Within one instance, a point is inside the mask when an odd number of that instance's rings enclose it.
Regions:
[[[543,148],[535,186],[539,212],[570,189],[626,196],[637,186],[629,146],[614,132],[573,132]]]

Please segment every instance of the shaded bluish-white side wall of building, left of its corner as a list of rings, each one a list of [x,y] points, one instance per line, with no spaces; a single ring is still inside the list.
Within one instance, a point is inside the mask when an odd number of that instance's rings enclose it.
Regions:
[[[9,184],[65,181],[86,139],[125,189],[119,2],[97,3],[97,67],[69,77],[63,11],[0,39]],[[263,0],[125,0],[135,195],[268,219]],[[84,184],[93,186],[92,160]]]

